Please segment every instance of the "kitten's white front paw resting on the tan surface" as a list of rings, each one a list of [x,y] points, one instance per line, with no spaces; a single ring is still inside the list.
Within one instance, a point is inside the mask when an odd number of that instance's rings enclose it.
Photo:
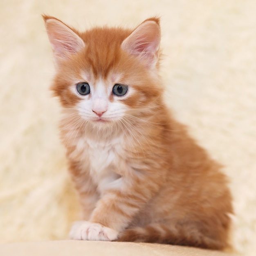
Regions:
[[[114,229],[89,221],[77,221],[70,230],[70,238],[73,240],[113,241],[117,235]]]

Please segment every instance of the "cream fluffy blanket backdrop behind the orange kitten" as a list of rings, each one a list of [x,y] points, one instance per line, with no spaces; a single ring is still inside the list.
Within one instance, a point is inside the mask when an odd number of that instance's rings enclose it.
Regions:
[[[234,247],[256,252],[255,0],[1,0],[0,242],[64,239],[79,218],[51,97],[41,13],[79,29],[162,21],[166,101],[224,164]]]

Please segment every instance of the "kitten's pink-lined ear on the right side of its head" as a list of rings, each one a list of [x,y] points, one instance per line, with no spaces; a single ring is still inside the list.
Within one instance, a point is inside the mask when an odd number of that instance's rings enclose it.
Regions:
[[[139,56],[150,66],[157,63],[161,31],[159,19],[145,20],[122,43],[126,52]]]

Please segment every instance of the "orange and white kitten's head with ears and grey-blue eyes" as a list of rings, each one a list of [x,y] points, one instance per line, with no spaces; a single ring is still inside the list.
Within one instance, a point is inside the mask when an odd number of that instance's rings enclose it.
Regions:
[[[43,18],[57,71],[52,90],[63,108],[103,128],[141,118],[159,104],[159,19],[134,30],[96,27],[80,33]]]

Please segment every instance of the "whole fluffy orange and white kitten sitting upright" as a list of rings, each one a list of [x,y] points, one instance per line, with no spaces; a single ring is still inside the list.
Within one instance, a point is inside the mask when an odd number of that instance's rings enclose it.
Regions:
[[[164,103],[159,19],[81,33],[43,18],[83,210],[70,238],[227,247],[227,179]]]

